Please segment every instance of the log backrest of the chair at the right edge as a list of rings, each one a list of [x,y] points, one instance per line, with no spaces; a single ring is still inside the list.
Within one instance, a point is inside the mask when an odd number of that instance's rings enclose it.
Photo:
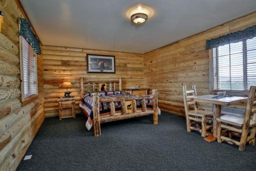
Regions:
[[[250,122],[251,114],[253,114],[252,120],[256,121],[256,109],[255,108],[253,109],[253,105],[256,105],[256,101],[254,101],[255,92],[256,92],[256,87],[251,86],[247,104],[246,104],[245,116],[244,116],[244,123],[247,123],[247,124],[249,124],[249,122]]]

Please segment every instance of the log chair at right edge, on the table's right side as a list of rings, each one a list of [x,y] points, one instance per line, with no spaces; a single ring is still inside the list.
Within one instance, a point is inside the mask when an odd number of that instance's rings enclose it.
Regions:
[[[245,150],[245,145],[249,142],[250,145],[255,145],[255,133],[256,133],[256,108],[253,105],[256,104],[254,101],[256,87],[251,86],[248,101],[246,104],[244,117],[237,117],[232,115],[223,115],[217,118],[218,121],[218,142],[225,141],[229,144],[236,144],[239,146],[240,151]],[[252,116],[251,116],[252,115]],[[240,141],[231,139],[232,134],[228,134],[229,137],[223,136],[223,132],[234,133],[239,135]],[[250,135],[249,134],[250,130]]]

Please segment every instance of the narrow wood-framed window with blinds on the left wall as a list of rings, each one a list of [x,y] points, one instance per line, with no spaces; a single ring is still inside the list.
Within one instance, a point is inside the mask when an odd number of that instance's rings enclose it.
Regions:
[[[36,53],[23,36],[20,36],[20,78],[25,105],[37,98],[37,67]]]

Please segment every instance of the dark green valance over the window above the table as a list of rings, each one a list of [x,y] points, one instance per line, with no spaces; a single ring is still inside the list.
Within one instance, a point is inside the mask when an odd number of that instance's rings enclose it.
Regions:
[[[230,33],[218,38],[206,40],[206,49],[217,48],[218,46],[239,42],[244,39],[253,38],[256,36],[256,25],[248,27],[242,31]]]

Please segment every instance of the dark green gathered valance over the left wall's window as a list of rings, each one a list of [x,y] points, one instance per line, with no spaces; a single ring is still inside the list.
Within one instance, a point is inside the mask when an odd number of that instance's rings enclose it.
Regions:
[[[31,47],[36,51],[37,54],[41,54],[40,41],[37,36],[33,33],[31,26],[27,19],[20,18],[20,29],[19,35],[24,36]]]

